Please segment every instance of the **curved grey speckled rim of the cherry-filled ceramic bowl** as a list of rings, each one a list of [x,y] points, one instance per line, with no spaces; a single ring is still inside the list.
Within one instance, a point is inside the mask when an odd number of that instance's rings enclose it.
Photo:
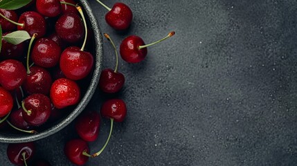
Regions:
[[[89,78],[87,84],[87,89],[84,90],[82,94],[82,98],[78,105],[72,107],[71,112],[64,116],[62,120],[55,122],[53,124],[48,124],[46,127],[42,129],[42,131],[36,134],[28,134],[28,133],[1,133],[0,131],[0,142],[7,142],[7,143],[17,143],[17,142],[30,142],[45,138],[47,136],[51,136],[52,134],[60,131],[64,127],[66,127],[69,123],[71,123],[87,106],[89,100],[91,99],[93,93],[96,90],[98,80],[100,77],[100,72],[102,68],[102,33],[100,31],[98,21],[96,17],[93,15],[93,12],[90,8],[90,5],[87,1],[80,0],[80,6],[82,6],[85,15],[84,17],[87,18],[89,26],[91,26],[91,30],[93,30],[93,55],[94,55],[94,69],[93,75]]]

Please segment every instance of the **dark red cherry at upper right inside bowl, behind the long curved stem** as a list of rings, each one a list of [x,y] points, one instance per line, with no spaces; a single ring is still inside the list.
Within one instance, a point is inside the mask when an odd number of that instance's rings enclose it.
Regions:
[[[64,14],[57,19],[55,32],[64,41],[76,43],[84,37],[84,25],[77,14]]]

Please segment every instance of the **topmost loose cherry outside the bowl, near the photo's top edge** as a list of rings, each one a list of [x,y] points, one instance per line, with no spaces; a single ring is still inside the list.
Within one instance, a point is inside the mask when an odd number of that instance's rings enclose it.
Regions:
[[[114,6],[105,15],[107,24],[116,30],[129,28],[132,22],[132,10],[125,3],[114,3]]]

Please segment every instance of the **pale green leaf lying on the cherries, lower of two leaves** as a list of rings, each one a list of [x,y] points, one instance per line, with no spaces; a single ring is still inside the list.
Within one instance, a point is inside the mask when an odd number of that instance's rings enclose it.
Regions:
[[[7,35],[3,36],[3,39],[10,44],[17,45],[21,42],[24,42],[26,39],[31,39],[31,37],[26,30],[17,30],[15,32],[8,33]]]

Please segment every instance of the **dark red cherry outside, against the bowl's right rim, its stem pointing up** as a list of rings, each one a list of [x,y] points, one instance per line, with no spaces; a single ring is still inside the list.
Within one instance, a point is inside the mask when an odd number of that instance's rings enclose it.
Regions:
[[[99,87],[105,93],[116,93],[122,89],[125,84],[125,77],[122,73],[115,73],[111,68],[102,70]]]

